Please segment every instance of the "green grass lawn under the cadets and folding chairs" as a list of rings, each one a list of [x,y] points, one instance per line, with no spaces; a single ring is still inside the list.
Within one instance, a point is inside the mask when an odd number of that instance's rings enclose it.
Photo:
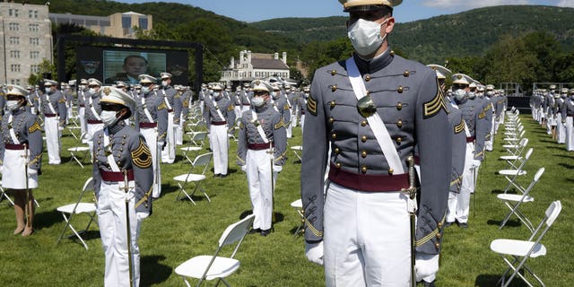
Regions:
[[[526,164],[528,174],[521,179],[527,185],[538,168],[546,171],[532,192],[534,203],[523,205],[523,212],[535,224],[540,222],[544,210],[552,201],[560,199],[562,213],[544,238],[548,249],[546,257],[530,260],[530,265],[547,286],[571,286],[574,283],[574,248],[572,235],[572,183],[574,182],[574,154],[566,152],[564,145],[554,143],[550,135],[531,117],[522,117],[529,147],[535,149]],[[294,129],[291,145],[299,145],[300,128]],[[467,230],[456,225],[445,231],[441,268],[437,286],[494,286],[505,270],[501,258],[491,252],[492,239],[527,239],[530,232],[513,218],[507,227],[498,229],[508,209],[496,198],[507,181],[495,174],[505,168],[498,161],[502,153],[497,135],[495,149],[483,162],[471,218]],[[74,137],[67,131],[63,136],[62,160],[59,166],[43,165],[40,187],[35,196],[40,207],[34,221],[35,234],[30,238],[13,236],[15,220],[13,208],[0,204],[0,284],[2,286],[101,286],[103,285],[104,256],[97,224],[84,235],[89,250],[75,239],[63,239],[56,244],[64,227],[59,205],[73,203],[86,178],[91,177],[91,165],[81,169],[70,160],[67,147],[74,145]],[[142,254],[142,286],[184,286],[173,270],[177,265],[201,254],[213,254],[222,230],[251,212],[247,179],[235,165],[236,144],[230,143],[230,177],[213,178],[207,172],[204,187],[212,202],[197,196],[197,205],[175,201],[177,184],[172,180],[187,173],[189,164],[178,152],[172,165],[162,165],[162,195],[154,203],[153,215],[143,222],[139,239]],[[229,277],[234,286],[322,286],[321,266],[309,263],[303,254],[302,237],[293,232],[300,223],[299,215],[290,203],[300,196],[300,163],[293,162],[294,154],[288,152],[283,172],[277,180],[275,213],[277,222],[274,233],[267,237],[248,235],[239,250],[239,272]],[[44,162],[48,155],[44,155]],[[87,200],[91,200],[91,195]],[[83,218],[77,217],[74,226],[82,228]],[[71,234],[71,233],[70,233]],[[210,285],[209,283],[207,285]],[[526,286],[516,279],[512,286]]]

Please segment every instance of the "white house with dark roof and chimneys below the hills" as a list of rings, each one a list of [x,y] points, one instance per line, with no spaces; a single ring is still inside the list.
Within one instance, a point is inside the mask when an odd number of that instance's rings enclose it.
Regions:
[[[286,52],[279,58],[279,53],[260,54],[243,50],[239,52],[239,62],[235,61],[235,57],[231,57],[229,67],[222,71],[220,83],[235,87],[256,79],[288,79],[289,75]]]

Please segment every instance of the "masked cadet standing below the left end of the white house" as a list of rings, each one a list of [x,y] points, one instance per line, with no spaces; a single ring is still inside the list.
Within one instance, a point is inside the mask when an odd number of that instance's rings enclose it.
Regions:
[[[209,130],[209,140],[213,150],[213,173],[217,178],[227,177],[230,142],[228,128],[235,124],[233,104],[223,97],[223,86],[215,83],[213,97],[205,98],[204,119]]]

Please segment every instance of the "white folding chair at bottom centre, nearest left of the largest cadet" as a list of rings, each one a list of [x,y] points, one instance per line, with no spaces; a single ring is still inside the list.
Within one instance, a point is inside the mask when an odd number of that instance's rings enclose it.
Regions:
[[[245,239],[249,228],[253,224],[254,219],[255,215],[250,214],[239,222],[228,226],[225,231],[223,231],[222,237],[219,239],[217,250],[213,256],[202,255],[193,257],[181,265],[178,265],[175,269],[175,273],[181,276],[187,287],[191,287],[187,278],[199,279],[196,286],[200,286],[205,280],[211,281],[217,279],[216,286],[222,282],[229,287],[230,284],[225,281],[225,278],[230,274],[234,274],[239,269],[240,263],[239,260],[235,259],[235,255],[243,239]],[[235,244],[235,248],[233,248],[230,257],[219,256],[223,247],[236,242],[237,244]]]

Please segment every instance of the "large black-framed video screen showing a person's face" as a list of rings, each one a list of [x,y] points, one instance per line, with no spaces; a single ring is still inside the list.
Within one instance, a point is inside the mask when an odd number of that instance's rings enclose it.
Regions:
[[[171,84],[188,84],[187,51],[116,47],[76,48],[78,79],[95,78],[111,85],[117,81],[139,83],[138,75],[160,78],[162,72],[173,75]]]

